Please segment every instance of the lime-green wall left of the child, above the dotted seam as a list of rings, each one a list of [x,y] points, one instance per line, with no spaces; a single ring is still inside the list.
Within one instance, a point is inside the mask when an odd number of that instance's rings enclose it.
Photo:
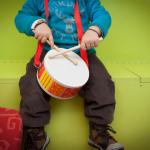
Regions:
[[[36,41],[18,33],[14,25],[14,17],[24,2],[24,0],[5,0],[0,4],[2,60],[26,60],[34,53]]]

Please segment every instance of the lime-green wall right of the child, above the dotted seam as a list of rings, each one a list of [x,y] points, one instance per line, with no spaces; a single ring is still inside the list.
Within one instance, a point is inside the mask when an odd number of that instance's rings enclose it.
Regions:
[[[103,0],[112,15],[112,28],[104,42],[104,60],[150,60],[150,1]]]

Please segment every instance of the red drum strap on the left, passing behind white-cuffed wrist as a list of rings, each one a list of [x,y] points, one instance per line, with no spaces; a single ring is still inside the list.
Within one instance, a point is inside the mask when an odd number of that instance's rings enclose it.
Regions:
[[[45,8],[45,15],[46,15],[46,20],[48,21],[49,17],[49,11],[48,11],[48,0],[44,0],[44,8]],[[41,42],[38,42],[37,50],[34,56],[34,66],[39,67],[41,62],[40,62],[40,56],[42,54],[43,50],[43,44]]]

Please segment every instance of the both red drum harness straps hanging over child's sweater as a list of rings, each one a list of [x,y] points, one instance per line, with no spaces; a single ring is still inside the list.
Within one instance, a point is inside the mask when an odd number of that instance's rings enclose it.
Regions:
[[[49,0],[44,0],[44,8],[45,8],[45,15],[46,15],[47,22],[48,22],[48,18],[49,18],[48,1]],[[75,23],[76,23],[76,27],[77,27],[78,41],[79,41],[79,43],[81,43],[84,31],[83,31],[83,27],[82,27],[82,21],[81,21],[81,16],[80,16],[80,11],[79,11],[78,0],[76,0],[75,7],[74,7],[74,19],[75,19]],[[44,44],[42,44],[39,41],[38,46],[37,46],[37,50],[36,50],[36,53],[34,56],[34,66],[36,68],[39,68],[41,65],[40,56],[42,54],[43,46],[44,46]],[[87,66],[89,66],[86,50],[80,48],[80,56],[85,61]]]

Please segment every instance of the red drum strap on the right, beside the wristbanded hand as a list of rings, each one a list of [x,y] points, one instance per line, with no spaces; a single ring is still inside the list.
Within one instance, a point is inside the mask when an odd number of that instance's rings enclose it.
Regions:
[[[76,23],[76,27],[77,27],[78,40],[81,43],[84,31],[83,31],[83,27],[82,27],[82,21],[81,21],[81,16],[80,16],[80,11],[79,11],[78,0],[76,0],[76,4],[75,4],[75,8],[74,8],[74,18],[75,18],[75,23]],[[81,58],[85,61],[85,63],[87,65],[89,65],[86,50],[80,48],[80,55],[81,55]]]

